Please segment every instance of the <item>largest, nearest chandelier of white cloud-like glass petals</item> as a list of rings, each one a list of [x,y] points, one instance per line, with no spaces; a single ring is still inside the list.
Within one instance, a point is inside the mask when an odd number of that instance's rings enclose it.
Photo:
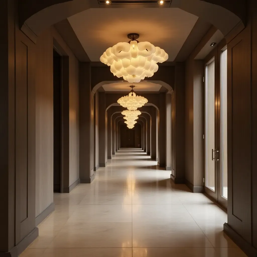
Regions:
[[[111,72],[118,78],[123,77],[130,83],[140,82],[152,77],[158,70],[158,62],[168,60],[168,54],[150,42],[139,42],[139,34],[127,35],[130,41],[120,42],[109,47],[100,57],[100,61],[111,66]]]

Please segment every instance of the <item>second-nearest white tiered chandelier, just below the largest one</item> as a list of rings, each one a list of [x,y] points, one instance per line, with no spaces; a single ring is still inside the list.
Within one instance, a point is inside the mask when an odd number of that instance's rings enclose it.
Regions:
[[[146,98],[143,96],[137,96],[136,93],[133,91],[135,86],[130,86],[132,90],[128,94],[128,96],[123,96],[118,99],[117,103],[120,104],[122,107],[127,108],[128,110],[136,110],[144,106],[148,102]]]

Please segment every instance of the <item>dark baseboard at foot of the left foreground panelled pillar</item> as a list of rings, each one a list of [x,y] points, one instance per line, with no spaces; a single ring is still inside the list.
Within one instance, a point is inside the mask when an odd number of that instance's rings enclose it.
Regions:
[[[10,252],[0,253],[0,257],[18,257],[36,238],[38,228],[35,227],[20,243],[13,247]]]

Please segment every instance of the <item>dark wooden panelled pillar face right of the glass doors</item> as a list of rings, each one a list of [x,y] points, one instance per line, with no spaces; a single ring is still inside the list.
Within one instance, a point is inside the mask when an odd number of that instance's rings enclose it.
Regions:
[[[251,33],[228,44],[228,224],[251,243]]]

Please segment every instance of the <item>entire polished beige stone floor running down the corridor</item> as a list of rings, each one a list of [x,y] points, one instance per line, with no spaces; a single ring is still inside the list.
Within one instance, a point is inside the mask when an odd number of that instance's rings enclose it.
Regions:
[[[54,194],[56,210],[22,257],[243,257],[226,213],[174,185],[142,150],[122,149],[91,184]]]

